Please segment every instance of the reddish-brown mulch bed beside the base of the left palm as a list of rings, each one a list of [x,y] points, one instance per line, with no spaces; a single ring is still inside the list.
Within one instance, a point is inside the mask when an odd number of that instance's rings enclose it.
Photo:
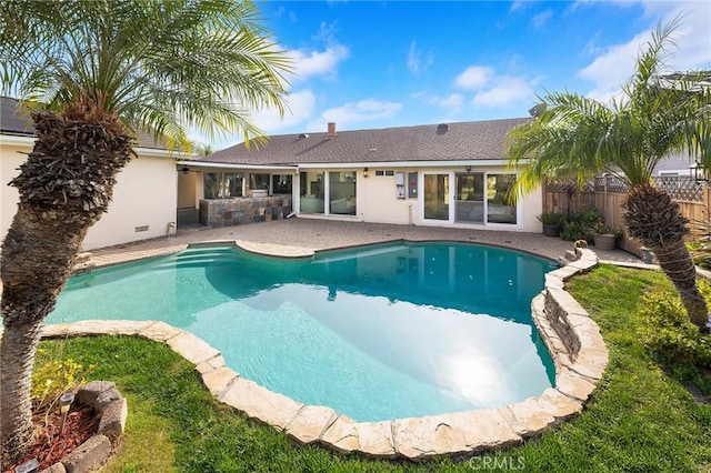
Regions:
[[[61,435],[59,430],[62,417],[59,409],[54,409],[48,419],[42,413],[36,414],[32,420],[39,433],[34,445],[21,461],[10,465],[4,473],[14,472],[17,465],[32,459],[40,462],[39,471],[50,467],[89,440],[99,429],[99,416],[87,405],[72,405]]]

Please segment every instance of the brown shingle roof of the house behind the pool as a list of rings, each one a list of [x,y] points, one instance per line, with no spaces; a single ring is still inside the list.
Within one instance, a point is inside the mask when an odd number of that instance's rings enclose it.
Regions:
[[[236,144],[199,159],[232,164],[331,164],[361,162],[500,160],[507,133],[530,118],[280,134],[267,145]]]

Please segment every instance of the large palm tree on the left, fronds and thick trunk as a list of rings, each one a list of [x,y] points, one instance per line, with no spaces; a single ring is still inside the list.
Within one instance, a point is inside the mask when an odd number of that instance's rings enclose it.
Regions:
[[[250,0],[3,1],[0,82],[33,105],[37,135],[10,182],[19,204],[0,260],[3,464],[31,445],[42,321],[138,133],[169,149],[189,149],[188,127],[261,143],[250,113],[283,113],[288,72]]]

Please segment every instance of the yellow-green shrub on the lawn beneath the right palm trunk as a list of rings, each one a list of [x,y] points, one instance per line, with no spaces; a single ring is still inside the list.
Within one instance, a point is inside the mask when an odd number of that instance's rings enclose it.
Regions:
[[[700,281],[699,286],[704,296],[711,294],[708,282]],[[711,365],[711,335],[699,332],[689,320],[678,294],[645,294],[640,315],[645,321],[640,336],[651,352],[668,361]]]

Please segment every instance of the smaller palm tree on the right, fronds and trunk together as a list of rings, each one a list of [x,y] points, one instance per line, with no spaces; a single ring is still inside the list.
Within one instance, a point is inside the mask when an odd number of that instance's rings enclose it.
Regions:
[[[507,158],[521,169],[519,192],[537,189],[550,177],[579,182],[609,172],[627,183],[624,223],[630,236],[657,255],[674,284],[689,318],[707,330],[708,310],[697,288],[695,268],[684,244],[688,220],[679,205],[652,185],[652,172],[670,152],[688,152],[711,165],[711,91],[698,72],[660,80],[673,44],[674,20],[657,28],[637,60],[620,98],[602,103],[574,93],[550,93],[537,117],[508,137]]]

